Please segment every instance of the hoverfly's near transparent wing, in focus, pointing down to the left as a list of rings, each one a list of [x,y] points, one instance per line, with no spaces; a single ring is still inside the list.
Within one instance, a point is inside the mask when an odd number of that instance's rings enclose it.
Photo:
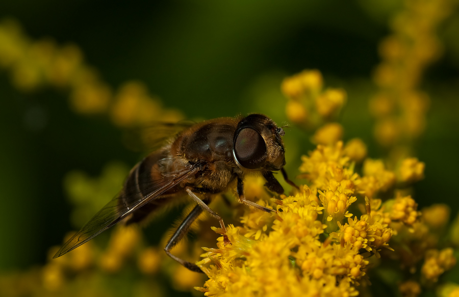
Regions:
[[[126,218],[129,214],[136,211],[150,200],[155,199],[162,193],[170,190],[170,188],[179,184],[182,180],[195,174],[197,170],[197,168],[190,166],[180,172],[168,174],[160,180],[151,181],[150,184],[148,184],[149,194],[145,196],[139,195],[138,192],[126,193],[122,191],[100,209],[80,231],[73,235],[53,258],[60,257],[83,245],[85,242]]]

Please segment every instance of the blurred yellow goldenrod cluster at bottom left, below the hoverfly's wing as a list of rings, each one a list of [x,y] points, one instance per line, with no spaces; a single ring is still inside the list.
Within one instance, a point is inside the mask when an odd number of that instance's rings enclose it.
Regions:
[[[203,281],[201,274],[193,273],[165,257],[162,249],[145,246],[142,237],[137,226],[117,226],[104,249],[89,241],[62,257],[51,259],[59,249],[58,246],[53,247],[49,250],[48,262],[38,270],[11,276],[13,279],[0,276],[2,293],[7,296],[37,297],[112,296],[119,295],[114,290],[122,286],[128,295],[145,296],[152,290],[155,295],[161,296],[164,287],[158,282],[161,273],[167,274],[173,286],[179,290],[188,291]],[[173,252],[181,257],[191,257],[186,244]],[[126,273],[134,275],[125,279]],[[18,290],[20,283],[30,285]],[[112,286],[113,290],[107,286]]]

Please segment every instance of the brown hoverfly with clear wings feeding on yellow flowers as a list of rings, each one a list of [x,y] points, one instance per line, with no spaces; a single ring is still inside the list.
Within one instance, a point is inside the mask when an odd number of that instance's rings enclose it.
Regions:
[[[281,136],[284,134],[282,127],[261,114],[218,118],[183,129],[162,148],[140,161],[129,173],[119,195],[73,235],[54,258],[83,245],[120,221],[124,220],[125,224],[141,222],[162,205],[188,195],[197,205],[164,250],[191,271],[201,272],[196,264],[172,255],[170,250],[204,210],[216,218],[226,232],[222,218],[208,204],[234,180],[237,180],[240,203],[266,212],[274,211],[246,200],[243,179],[248,173],[261,173],[267,181],[265,186],[282,194],[284,189],[272,173],[281,170],[285,180],[296,187],[283,168],[286,163]],[[223,238],[225,244],[231,244],[225,235]]]

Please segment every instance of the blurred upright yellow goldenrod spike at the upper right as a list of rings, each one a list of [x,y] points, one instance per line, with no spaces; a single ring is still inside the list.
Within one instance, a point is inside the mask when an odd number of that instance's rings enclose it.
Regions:
[[[454,6],[451,0],[405,0],[393,17],[393,33],[379,45],[382,61],[373,75],[379,91],[369,105],[379,144],[410,143],[424,131],[430,99],[418,85],[424,69],[442,54],[436,30]]]

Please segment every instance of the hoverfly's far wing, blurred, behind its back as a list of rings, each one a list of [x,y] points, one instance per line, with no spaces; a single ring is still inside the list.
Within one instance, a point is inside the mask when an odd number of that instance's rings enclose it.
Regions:
[[[196,124],[192,121],[178,123],[151,122],[146,126],[126,129],[122,134],[123,144],[135,152],[154,151],[164,145],[180,131]]]

